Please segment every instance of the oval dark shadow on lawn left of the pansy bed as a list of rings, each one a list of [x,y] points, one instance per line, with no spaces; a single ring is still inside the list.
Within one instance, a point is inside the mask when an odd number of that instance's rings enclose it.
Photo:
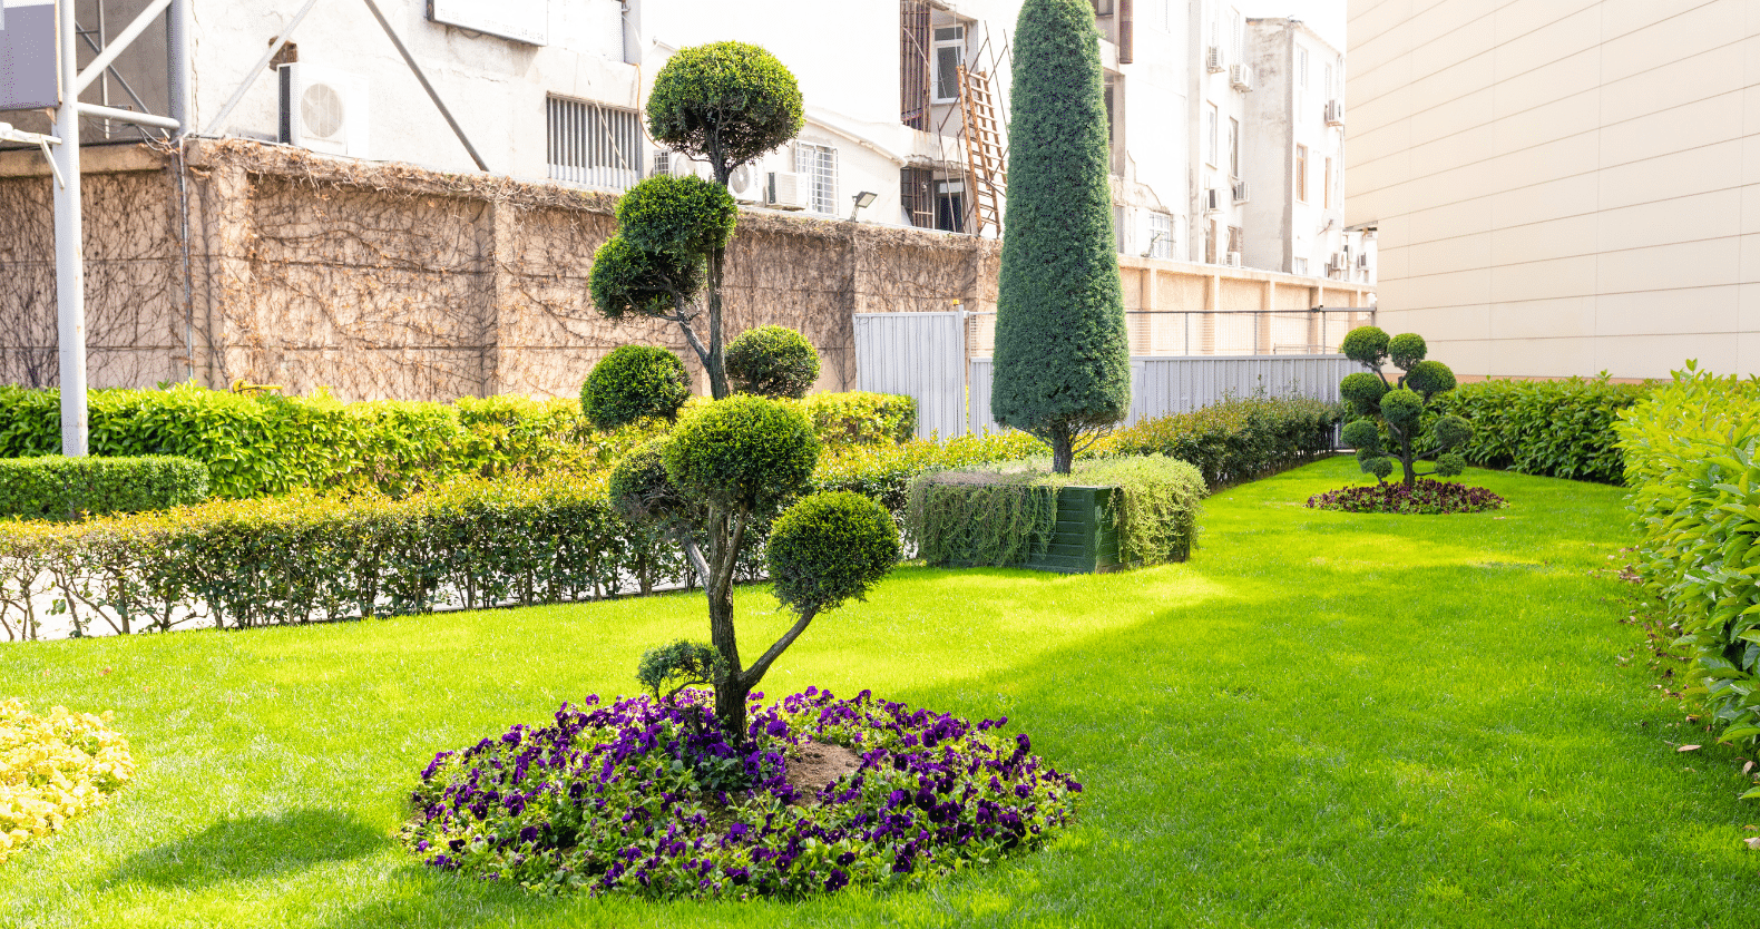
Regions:
[[[194,836],[148,848],[125,860],[109,883],[201,887],[289,874],[315,864],[359,859],[391,836],[334,809],[292,809],[280,816],[222,820]]]

